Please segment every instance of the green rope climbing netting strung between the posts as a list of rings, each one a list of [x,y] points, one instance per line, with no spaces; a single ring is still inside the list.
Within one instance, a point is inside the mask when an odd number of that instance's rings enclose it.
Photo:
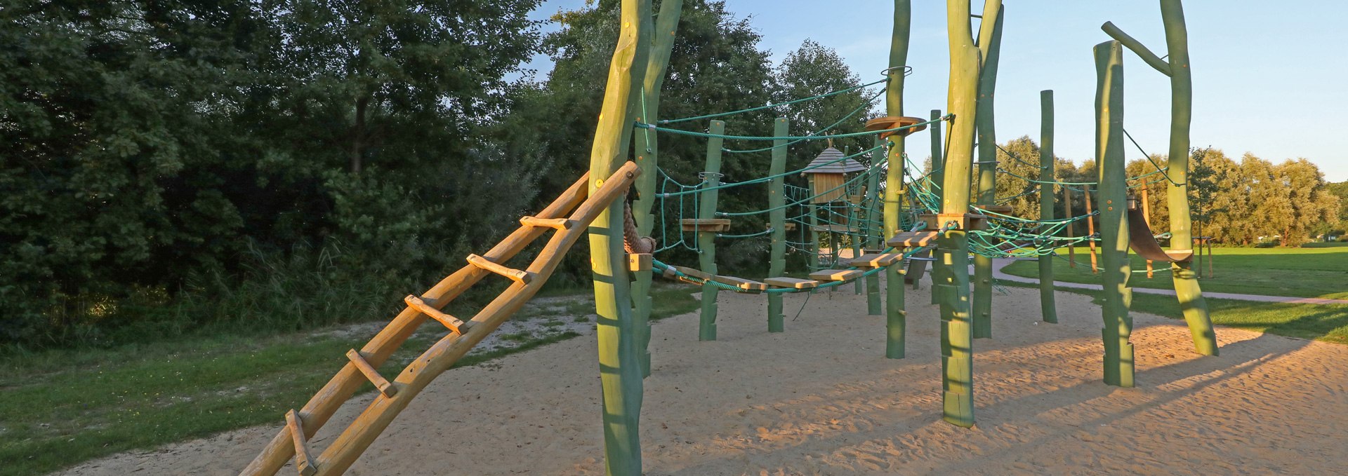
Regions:
[[[868,86],[880,85],[887,81],[888,78],[865,85],[851,86],[847,89],[820,95],[770,104],[758,108],[714,113],[714,114],[704,114],[696,117],[685,117],[677,120],[662,120],[658,121],[658,124],[636,122],[635,126],[640,130],[640,133],[646,134],[666,133],[666,134],[698,137],[705,140],[720,138],[720,140],[751,141],[751,143],[778,141],[778,144],[768,147],[758,147],[758,148],[745,148],[745,149],[721,148],[723,153],[744,155],[744,153],[772,152],[775,149],[787,148],[805,141],[833,140],[833,138],[861,137],[861,136],[880,136],[884,133],[895,133],[906,129],[923,128],[926,125],[938,121],[956,120],[953,116],[946,116],[942,118],[906,126],[898,126],[892,129],[867,130],[855,133],[832,133],[833,129],[847,124],[847,121],[855,120],[859,114],[863,114],[865,110],[868,110],[869,106],[875,102],[875,100],[886,93],[886,87],[880,87],[880,90],[874,95],[871,95],[865,102],[863,102],[861,106],[853,109],[848,114],[844,114],[841,118],[821,128],[820,130],[810,132],[805,136],[735,136],[735,134],[712,133],[701,130],[686,130],[671,126],[673,124],[681,124],[697,120],[712,120],[712,118],[743,114],[756,110],[786,108],[807,101],[817,101],[826,97],[863,90]],[[1128,138],[1131,140],[1132,137],[1130,136]],[[686,231],[685,227],[678,223],[682,223],[690,215],[697,216],[697,210],[702,208],[701,200],[709,191],[735,190],[748,186],[766,184],[772,180],[782,180],[789,176],[809,173],[818,168],[842,164],[856,159],[861,159],[861,161],[868,163],[868,165],[865,165],[865,168],[859,172],[848,175],[847,179],[838,186],[834,186],[828,190],[818,190],[818,187],[807,188],[783,183],[782,190],[785,200],[779,206],[775,207],[768,206],[758,210],[716,211],[714,216],[735,218],[735,216],[767,215],[770,212],[782,210],[786,214],[786,223],[787,223],[786,226],[787,230],[785,231],[794,231],[786,234],[787,246],[793,251],[818,253],[816,250],[821,250],[822,247],[818,246],[818,238],[816,237],[820,233],[826,233],[826,235],[829,237],[828,238],[829,253],[814,254],[813,260],[809,260],[811,264],[810,269],[818,270],[818,269],[837,268],[840,265],[838,249],[841,246],[849,246],[855,251],[861,251],[861,250],[872,251],[880,247],[879,243],[882,243],[884,239],[884,233],[883,233],[884,227],[883,227],[883,221],[880,218],[884,194],[880,188],[883,187],[882,186],[884,183],[883,177],[888,173],[888,169],[891,167],[900,167],[902,176],[905,177],[903,180],[905,190],[902,195],[907,196],[907,200],[900,199],[900,203],[903,203],[905,206],[900,207],[899,225],[902,230],[910,230],[910,231],[925,230],[926,225],[921,215],[936,214],[937,211],[941,210],[941,184],[938,184],[937,180],[940,180],[938,177],[944,172],[942,171],[944,164],[931,167],[929,171],[922,172],[923,168],[913,164],[913,161],[909,159],[906,153],[900,155],[902,163],[891,164],[888,160],[886,160],[886,157],[891,157],[888,151],[891,144],[892,143],[890,141],[884,141],[872,148],[867,148],[856,153],[842,155],[837,159],[832,159],[824,163],[813,163],[803,168],[775,175],[752,177],[740,182],[725,182],[723,180],[725,179],[725,176],[718,172],[701,172],[698,173],[696,180],[690,179],[679,180],[662,168],[658,171],[659,191],[655,194],[655,196],[659,200],[659,204],[655,207],[656,210],[652,211],[658,214],[658,223],[659,223],[658,230],[655,230],[658,235],[656,238],[658,247],[655,253],[670,251],[675,249],[686,249],[696,253],[702,253],[702,250],[697,245],[697,241],[687,239],[689,235],[696,235],[698,230],[694,227],[692,231]],[[1136,145],[1136,141],[1134,141],[1134,145]],[[998,148],[1002,149],[1002,152],[1006,153],[1006,156],[1008,156],[1011,160],[1020,161],[1022,164],[1034,167],[1039,169],[1041,173],[1038,173],[1039,177],[1027,177],[1015,173],[1007,169],[1006,167],[998,165],[999,172],[1023,180],[1026,183],[1026,187],[1020,194],[998,199],[996,204],[1010,203],[1018,198],[1027,195],[1037,195],[1043,192],[1045,190],[1051,194],[1054,190],[1053,187],[1065,187],[1076,192],[1089,194],[1089,188],[1092,186],[1096,186],[1095,182],[1062,182],[1051,177],[1049,180],[1043,180],[1042,179],[1043,167],[1027,163],[1015,153],[1003,149],[1000,145]],[[1140,145],[1138,147],[1138,149],[1142,151]],[[1169,177],[1165,175],[1165,169],[1154,160],[1151,160],[1150,155],[1146,155],[1144,151],[1143,155],[1147,157],[1147,160],[1151,161],[1153,165],[1155,165],[1157,169],[1148,173],[1139,175],[1136,177],[1130,177],[1128,179],[1130,182],[1135,180],[1138,182],[1138,184],[1130,188],[1144,187],[1161,180],[1169,180]],[[1150,179],[1150,176],[1157,173],[1162,175],[1161,179]],[[829,199],[837,196],[841,196],[844,199]],[[1055,251],[1058,249],[1069,246],[1080,246],[1084,243],[1099,241],[1099,235],[1095,233],[1074,235],[1074,233],[1072,233],[1073,230],[1070,229],[1074,227],[1074,225],[1078,222],[1089,221],[1092,219],[1092,216],[1099,215],[1099,211],[1086,211],[1082,214],[1072,215],[1070,202],[1068,208],[1070,216],[1054,218],[1054,219],[1031,219],[1026,216],[1015,216],[1008,212],[999,211],[1004,208],[999,210],[992,210],[992,208],[993,207],[977,206],[977,204],[969,207],[971,212],[987,216],[985,227],[979,230],[971,230],[968,234],[969,251],[973,254],[984,257],[996,257],[996,258],[1030,258],[1030,257],[1057,255]],[[774,231],[775,230],[771,226],[766,227],[764,230],[749,231],[749,233],[717,231],[716,238],[747,239],[747,238],[768,235],[772,234]],[[903,258],[910,260],[913,255],[925,249],[909,249],[907,251],[903,253]],[[891,253],[891,251],[894,251],[892,247],[886,247],[882,253]],[[661,272],[673,273],[674,276],[677,276],[679,280],[683,281],[694,284],[706,282],[724,289],[743,290],[735,285],[723,284],[713,280],[698,278],[694,276],[687,276],[659,261],[655,262],[655,268]],[[876,272],[879,272],[879,269],[869,269],[865,270],[863,276],[871,276]],[[844,281],[826,282],[820,285],[818,288],[840,285],[842,282]],[[794,290],[798,289],[768,289],[767,292],[794,292]]]

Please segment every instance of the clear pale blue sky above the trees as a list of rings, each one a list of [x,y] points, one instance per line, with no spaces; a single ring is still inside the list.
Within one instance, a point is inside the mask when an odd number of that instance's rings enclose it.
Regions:
[[[584,0],[547,0],[546,17]],[[833,47],[864,82],[887,67],[894,3],[890,0],[807,1],[727,0],[729,11],[752,17],[762,48],[780,61],[814,39]],[[998,141],[1039,136],[1039,91],[1054,90],[1057,155],[1080,161],[1093,155],[1095,65],[1091,47],[1109,38],[1113,22],[1157,55],[1165,32],[1157,1],[1004,0],[1006,23],[998,71]],[[981,1],[973,1],[981,11]],[[1329,182],[1348,180],[1348,153],[1340,145],[1348,120],[1348,62],[1340,56],[1348,1],[1185,3],[1193,67],[1193,145],[1250,152],[1282,161],[1306,157]],[[975,26],[977,31],[977,26]],[[949,54],[945,1],[913,1],[905,89],[907,116],[945,109]],[[1169,78],[1136,55],[1124,55],[1124,128],[1150,153],[1166,153],[1170,124]],[[547,69],[546,62],[535,67]],[[1337,79],[1336,79],[1337,78]],[[914,156],[921,151],[913,151]],[[1130,159],[1140,157],[1135,148]]]

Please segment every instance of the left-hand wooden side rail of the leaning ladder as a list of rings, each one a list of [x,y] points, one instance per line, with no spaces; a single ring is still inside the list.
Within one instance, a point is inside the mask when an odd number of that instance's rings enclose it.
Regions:
[[[589,191],[589,173],[581,176],[576,183],[573,183],[566,191],[563,191],[553,203],[545,207],[538,216],[542,218],[561,218],[570,212],[573,208],[585,200]],[[528,243],[532,243],[538,237],[551,230],[542,227],[522,227],[511,233],[506,239],[492,247],[489,251],[484,253],[484,257],[492,260],[507,261],[519,251],[522,251]],[[431,307],[439,309],[446,304],[462,294],[468,288],[481,281],[484,277],[491,276],[491,272],[473,266],[465,265],[450,276],[446,276],[438,284],[430,288],[422,294],[422,299],[427,301]],[[360,351],[373,367],[379,367],[388,360],[388,356],[402,347],[403,342],[407,340],[417,331],[421,324],[423,324],[429,317],[421,311],[412,308],[404,308],[402,312],[394,317],[388,325],[386,325],[379,333],[375,335],[365,347]],[[306,437],[313,437],[324,424],[337,409],[341,407],[352,394],[360,389],[368,379],[361,374],[360,368],[355,363],[348,363],[344,366],[337,375],[333,375],[330,381],[313,398],[299,409],[298,414],[303,421],[303,432]],[[295,456],[295,448],[291,442],[290,430],[282,428],[275,437],[263,448],[263,450],[252,460],[252,463],[245,467],[240,475],[275,475],[280,471],[291,457]]]

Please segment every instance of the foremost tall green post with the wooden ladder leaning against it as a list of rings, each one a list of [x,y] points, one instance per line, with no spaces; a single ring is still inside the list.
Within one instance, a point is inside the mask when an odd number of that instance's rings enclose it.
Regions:
[[[642,87],[650,42],[650,0],[623,0],[617,46],[608,70],[594,145],[590,149],[593,194],[625,160],[634,110]],[[608,475],[642,473],[642,367],[636,352],[630,285],[623,250],[623,203],[615,200],[590,225],[590,266],[594,274],[594,312],[599,315],[600,387],[603,389],[604,469]],[[620,305],[621,303],[621,305]]]

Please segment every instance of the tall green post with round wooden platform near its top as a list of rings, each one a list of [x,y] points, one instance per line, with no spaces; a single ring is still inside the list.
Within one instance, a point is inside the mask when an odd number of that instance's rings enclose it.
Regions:
[[[913,5],[909,0],[894,0],[894,35],[890,40],[888,90],[884,94],[884,112],[888,116],[903,116],[903,74],[909,63],[909,36],[913,30]],[[888,171],[884,175],[884,239],[894,238],[902,227],[899,207],[903,204],[903,147],[905,136],[888,137]],[[902,359],[907,333],[907,311],[905,311],[903,274],[898,266],[884,269],[884,356]]]

